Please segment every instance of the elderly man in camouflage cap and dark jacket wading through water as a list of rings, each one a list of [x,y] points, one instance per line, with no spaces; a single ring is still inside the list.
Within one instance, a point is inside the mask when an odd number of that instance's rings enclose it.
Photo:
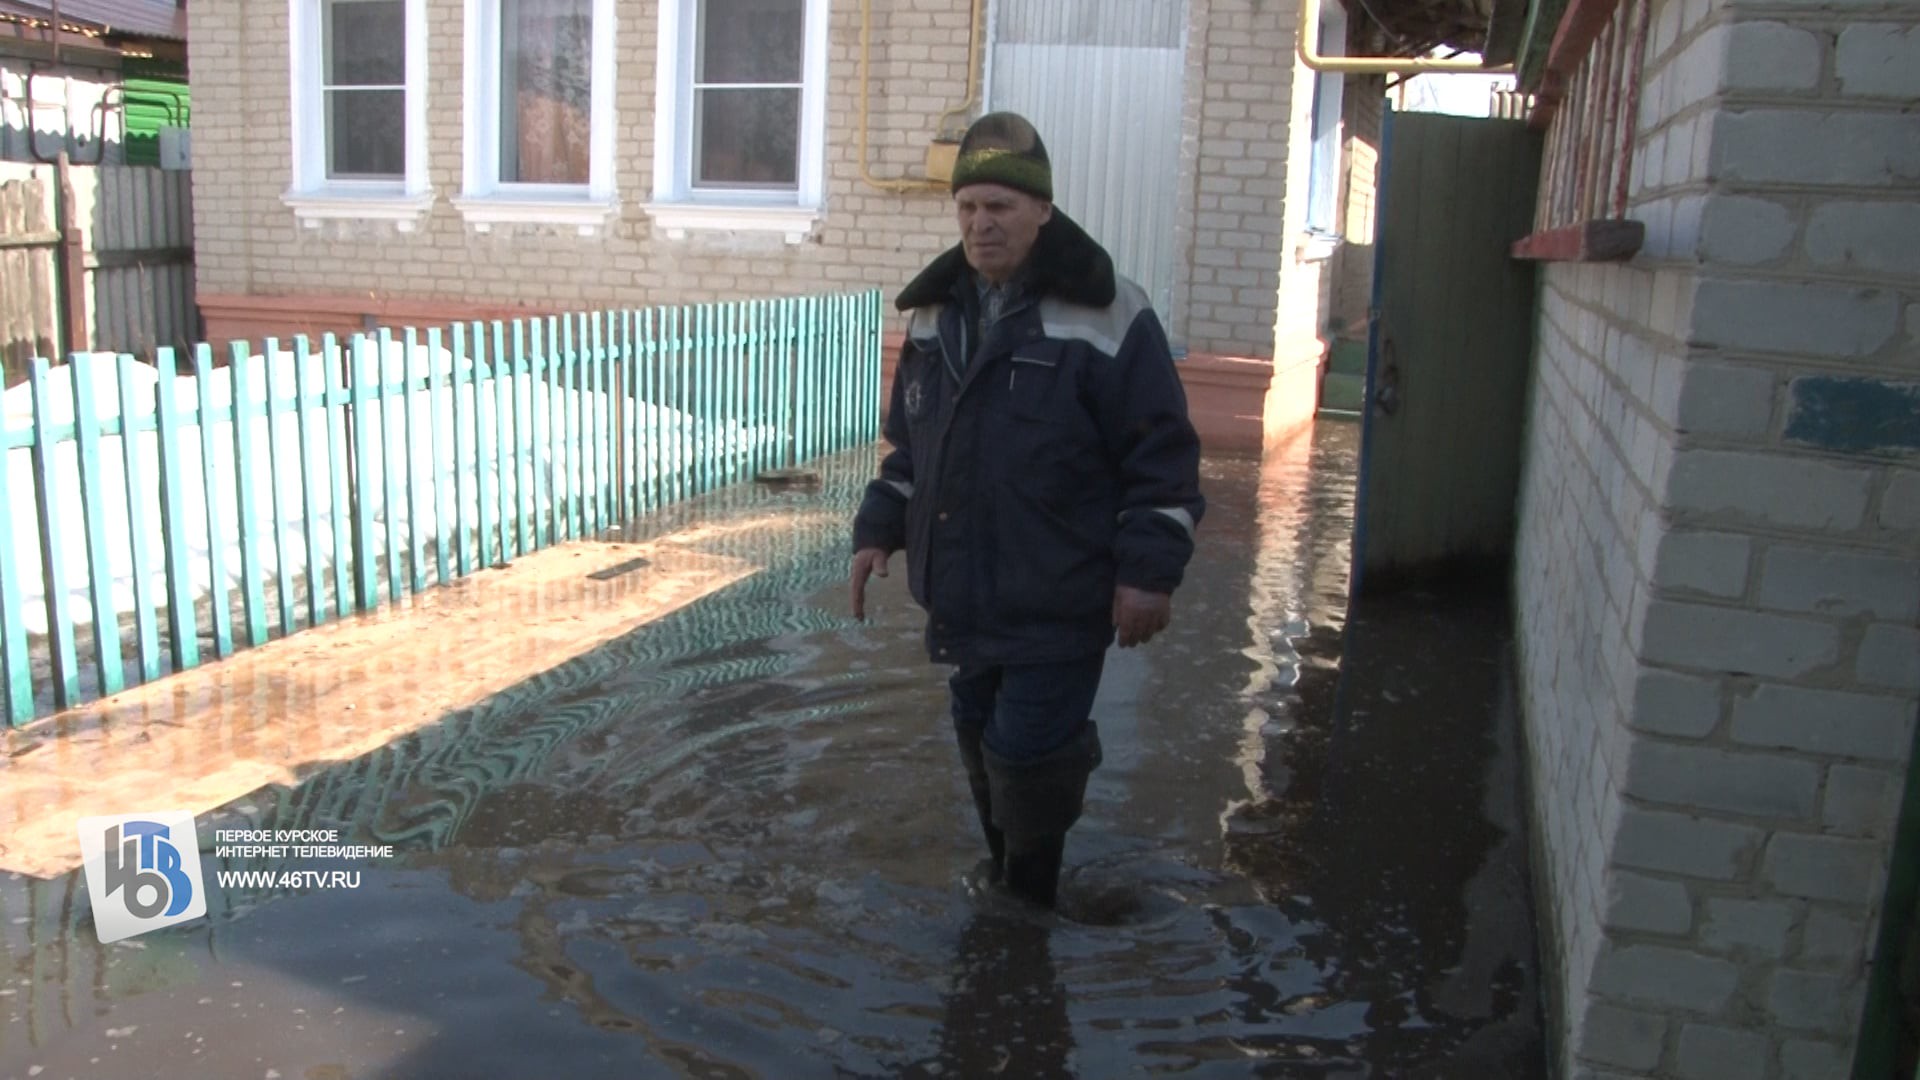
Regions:
[[[1033,125],[983,115],[954,163],[960,244],[899,296],[893,452],[854,519],[852,611],[904,548],[989,880],[1052,907],[1100,765],[1106,650],[1148,642],[1200,521],[1200,442],[1160,319],[1052,206]]]

